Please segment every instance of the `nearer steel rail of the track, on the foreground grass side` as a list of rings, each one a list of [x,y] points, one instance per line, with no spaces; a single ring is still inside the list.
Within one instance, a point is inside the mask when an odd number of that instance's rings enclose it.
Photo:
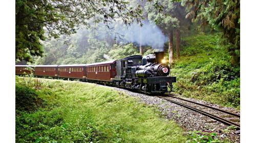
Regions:
[[[209,112],[203,111],[203,110],[198,109],[198,108],[195,108],[195,107],[188,106],[188,105],[186,105],[186,104],[183,104],[183,103],[180,103],[180,102],[177,102],[177,101],[174,101],[174,100],[170,100],[170,99],[165,98],[165,97],[162,97],[162,96],[158,96],[158,98],[162,98],[162,99],[164,99],[164,100],[167,100],[167,101],[173,102],[173,103],[175,103],[175,104],[178,104],[178,105],[180,105],[180,106],[186,107],[186,108],[188,108],[188,109],[190,109],[190,110],[197,111],[197,112],[201,113],[202,115],[208,116],[208,117],[210,117],[210,118],[212,118],[212,119],[214,119],[214,120],[217,120],[217,121],[219,121],[219,122],[221,122],[221,123],[224,123],[224,124],[226,124],[226,125],[229,125],[229,126],[231,126],[231,125],[237,126],[237,127],[240,129],[240,125],[239,125],[239,124],[233,123],[233,122],[228,121],[228,120],[225,120],[225,119],[220,118],[220,117],[218,117],[218,116],[216,116],[216,115],[212,115],[212,114],[209,113]]]

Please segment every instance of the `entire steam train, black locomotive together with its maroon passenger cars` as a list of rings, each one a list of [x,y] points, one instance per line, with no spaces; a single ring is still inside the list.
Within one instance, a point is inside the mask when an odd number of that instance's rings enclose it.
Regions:
[[[15,66],[15,73],[33,73],[36,77],[68,80],[79,79],[157,94],[171,92],[172,83],[176,82],[176,77],[169,76],[170,68],[163,63],[163,59],[164,52],[155,52],[145,56],[132,55],[121,60],[93,64]]]

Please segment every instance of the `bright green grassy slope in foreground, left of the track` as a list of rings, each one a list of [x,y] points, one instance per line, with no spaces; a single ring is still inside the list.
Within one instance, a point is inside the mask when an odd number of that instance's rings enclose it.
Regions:
[[[32,98],[26,98],[24,106],[30,109],[16,106],[16,142],[185,142],[187,138],[155,107],[108,87],[16,78],[16,103],[23,102],[19,97],[27,93]]]

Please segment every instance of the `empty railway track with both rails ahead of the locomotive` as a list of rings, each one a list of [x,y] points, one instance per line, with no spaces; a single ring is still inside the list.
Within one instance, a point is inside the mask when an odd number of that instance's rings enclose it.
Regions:
[[[227,120],[227,119],[224,119],[224,118],[222,118],[222,117],[220,117],[220,116],[214,115],[214,113],[211,113],[211,112],[205,111],[205,110],[203,110],[203,109],[200,109],[200,108],[198,108],[198,106],[197,106],[197,107],[194,107],[194,106],[191,105],[191,104],[196,104],[196,105],[199,105],[199,106],[201,106],[201,107],[203,106],[204,109],[205,109],[205,107],[206,107],[206,108],[208,108],[208,109],[217,110],[217,111],[219,111],[219,112],[221,112],[221,113],[224,113],[224,114],[226,114],[226,115],[239,118],[239,120],[240,120],[240,115],[237,115],[236,113],[228,112],[228,111],[226,111],[226,110],[222,110],[222,109],[219,109],[219,108],[207,106],[207,105],[204,105],[204,104],[200,104],[200,103],[197,103],[197,102],[194,102],[194,101],[190,101],[190,100],[186,100],[186,99],[182,99],[182,98],[178,98],[178,97],[174,97],[174,96],[158,96],[158,97],[161,98],[161,99],[167,100],[167,101],[169,101],[169,102],[173,102],[173,103],[175,103],[175,104],[178,104],[178,105],[180,105],[180,106],[183,106],[183,107],[185,107],[185,108],[188,108],[188,109],[190,109],[190,110],[199,112],[199,113],[201,113],[201,114],[204,115],[204,116],[208,116],[209,118],[214,119],[214,120],[216,120],[216,121],[219,121],[219,122],[221,122],[221,123],[223,123],[223,124],[226,124],[226,125],[228,125],[228,126],[233,125],[233,126],[236,126],[238,129],[240,129],[240,125],[239,125],[238,123],[234,123],[234,122],[232,122],[232,121],[230,121],[230,120]],[[167,97],[168,97],[168,98],[167,98]],[[173,100],[173,99],[171,99],[171,98],[181,100],[182,102],[175,101],[175,100]],[[184,102],[187,102],[187,103],[184,103]],[[190,104],[190,105],[189,105],[189,104]],[[215,112],[216,112],[216,111],[215,111]]]

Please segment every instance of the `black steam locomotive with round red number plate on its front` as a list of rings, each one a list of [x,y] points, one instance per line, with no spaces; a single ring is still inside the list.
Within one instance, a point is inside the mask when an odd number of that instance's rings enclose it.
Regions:
[[[146,56],[132,55],[116,61],[116,87],[143,91],[148,94],[172,91],[176,77],[169,76],[170,68],[162,64],[164,52]],[[169,87],[169,91],[168,91]]]

